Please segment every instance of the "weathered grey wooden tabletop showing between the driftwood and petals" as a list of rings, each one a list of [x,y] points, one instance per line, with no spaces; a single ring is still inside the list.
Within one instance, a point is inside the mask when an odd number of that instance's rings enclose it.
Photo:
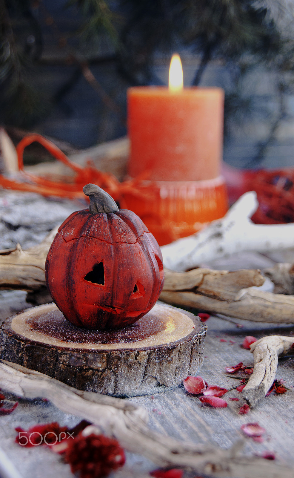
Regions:
[[[78,208],[78,207],[77,207]],[[218,269],[242,269],[247,267],[265,268],[277,261],[293,261],[293,251],[278,251],[264,256],[255,253],[242,253],[231,258],[225,258],[208,264]],[[30,304],[25,302],[26,293],[22,291],[0,291],[0,322],[8,315],[15,314]],[[236,325],[238,322],[239,326]],[[210,317],[207,321],[208,334],[205,342],[205,358],[199,374],[209,385],[220,385],[230,388],[239,381],[226,376],[225,367],[242,361],[252,365],[252,354],[242,348],[242,341],[246,335],[256,338],[271,334],[294,335],[291,325],[279,326],[260,324],[250,321],[219,317]],[[287,381],[292,389],[294,358],[289,357],[279,361],[277,378]],[[11,400],[17,397],[7,394]],[[239,398],[231,401],[229,398]],[[191,440],[196,443],[212,443],[223,448],[230,447],[237,440],[244,440],[244,453],[248,456],[260,454],[265,450],[273,451],[277,458],[284,463],[294,466],[294,391],[287,391],[284,395],[273,393],[265,398],[255,410],[246,415],[240,415],[238,410],[243,404],[240,394],[236,390],[229,391],[223,396],[228,402],[224,409],[204,407],[195,396],[187,395],[183,388],[178,388],[154,396],[133,397],[130,400],[144,406],[149,412],[150,427],[162,433],[182,440]],[[69,478],[73,475],[69,466],[62,458],[43,447],[22,448],[14,443],[16,432],[14,428],[21,426],[25,430],[37,423],[57,421],[61,425],[73,426],[80,418],[60,412],[50,402],[42,399],[20,399],[18,408],[8,416],[0,416],[0,446],[13,461],[23,478],[55,478],[60,476]],[[258,422],[266,429],[264,442],[257,443],[252,438],[242,434],[241,425]],[[148,472],[157,468],[156,465],[143,456],[127,454],[125,467],[111,475],[117,478],[144,478]],[[195,477],[195,473],[185,473],[185,478]],[[282,478],[282,477],[281,477]]]

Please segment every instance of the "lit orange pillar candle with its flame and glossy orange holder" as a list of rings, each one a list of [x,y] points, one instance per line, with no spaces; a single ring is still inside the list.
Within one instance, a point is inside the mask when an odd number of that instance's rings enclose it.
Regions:
[[[228,209],[220,176],[223,90],[183,88],[179,56],[172,58],[169,72],[168,88],[127,92],[127,173],[133,178],[146,173],[148,180],[145,196],[126,193],[126,207],[141,217],[159,245],[193,234]]]

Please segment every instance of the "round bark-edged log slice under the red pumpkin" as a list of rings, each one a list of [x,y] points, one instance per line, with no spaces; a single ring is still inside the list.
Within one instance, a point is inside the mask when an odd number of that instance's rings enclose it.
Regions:
[[[55,304],[45,304],[6,319],[0,358],[78,390],[116,397],[154,394],[197,374],[205,335],[199,317],[165,304],[113,331],[74,326]]]

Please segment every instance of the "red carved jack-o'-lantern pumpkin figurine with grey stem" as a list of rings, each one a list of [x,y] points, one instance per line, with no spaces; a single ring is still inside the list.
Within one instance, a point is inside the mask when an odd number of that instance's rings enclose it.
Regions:
[[[58,229],[45,265],[46,284],[76,326],[114,329],[133,324],[156,303],[164,272],[158,243],[141,219],[118,209],[100,187],[83,188],[89,210]]]

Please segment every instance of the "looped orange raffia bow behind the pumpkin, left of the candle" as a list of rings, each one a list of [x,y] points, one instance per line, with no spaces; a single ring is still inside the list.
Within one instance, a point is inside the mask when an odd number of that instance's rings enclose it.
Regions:
[[[26,146],[39,142],[44,146],[54,158],[71,168],[76,174],[70,183],[68,181],[52,181],[42,176],[28,173],[23,167],[23,151]],[[28,191],[42,194],[42,196],[59,196],[69,199],[85,199],[83,186],[88,183],[94,183],[109,193],[115,201],[120,202],[120,206],[124,207],[124,194],[132,194],[134,196],[146,196],[144,186],[140,183],[143,177],[138,177],[130,181],[120,183],[111,173],[102,173],[90,163],[85,167],[74,163],[59,149],[52,141],[47,140],[40,134],[29,134],[25,136],[16,147],[18,157],[19,175],[15,179],[10,179],[0,174],[0,185],[6,189],[15,189],[19,191]],[[64,178],[63,178],[64,179]],[[140,188],[137,189],[137,187]],[[88,198],[87,198],[88,199]]]

